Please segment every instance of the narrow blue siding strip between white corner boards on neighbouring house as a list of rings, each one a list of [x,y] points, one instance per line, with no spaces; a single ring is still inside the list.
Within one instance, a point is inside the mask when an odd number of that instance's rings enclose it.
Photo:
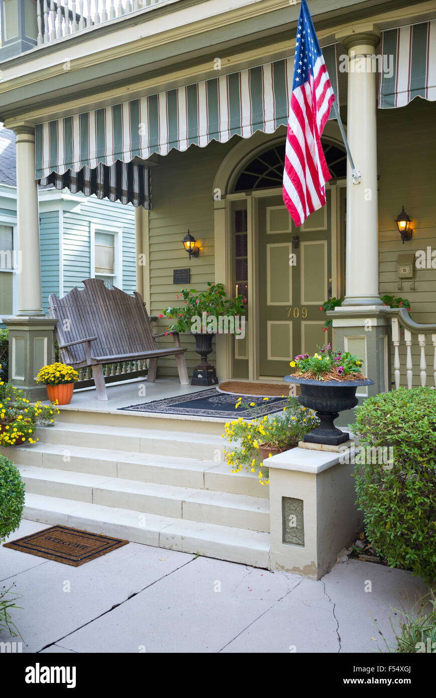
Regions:
[[[59,211],[42,211],[40,218],[41,291],[48,311],[50,293],[59,293]]]

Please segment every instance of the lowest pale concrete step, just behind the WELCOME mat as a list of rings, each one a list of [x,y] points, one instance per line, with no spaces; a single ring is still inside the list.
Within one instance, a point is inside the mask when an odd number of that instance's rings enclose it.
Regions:
[[[76,500],[26,494],[24,519],[268,569],[269,533],[174,519]]]

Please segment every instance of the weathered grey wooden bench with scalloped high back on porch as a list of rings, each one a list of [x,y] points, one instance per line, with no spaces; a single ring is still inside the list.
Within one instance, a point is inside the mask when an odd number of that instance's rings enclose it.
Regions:
[[[80,369],[92,366],[99,400],[107,400],[103,364],[148,359],[148,383],[156,380],[157,360],[175,356],[180,383],[189,385],[184,352],[177,332],[174,347],[158,349],[142,296],[129,296],[119,288],[108,289],[101,279],[85,279],[63,298],[50,295],[50,315],[58,320],[55,332],[64,364]]]

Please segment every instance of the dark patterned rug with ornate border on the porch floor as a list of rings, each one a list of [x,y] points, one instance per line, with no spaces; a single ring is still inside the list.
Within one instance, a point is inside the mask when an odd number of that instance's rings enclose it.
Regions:
[[[283,394],[283,393],[282,393]],[[286,393],[284,393],[286,395]],[[177,395],[167,397],[163,400],[140,403],[129,407],[120,407],[119,410],[134,410],[136,412],[159,412],[166,415],[196,415],[198,417],[244,417],[254,419],[263,417],[273,412],[279,412],[286,407],[287,399],[282,397],[270,397],[264,400],[259,395],[242,396],[242,402],[254,402],[254,407],[243,408],[242,405],[235,408],[237,395],[217,392],[217,389],[210,388],[201,392],[190,393],[189,395]],[[257,406],[257,409],[256,409]]]

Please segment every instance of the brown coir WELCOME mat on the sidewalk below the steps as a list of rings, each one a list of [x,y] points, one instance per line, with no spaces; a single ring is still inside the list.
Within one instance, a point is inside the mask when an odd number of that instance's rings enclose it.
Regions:
[[[57,563],[79,567],[89,560],[95,560],[112,550],[126,545],[129,541],[120,538],[110,538],[108,535],[88,533],[86,530],[67,528],[67,526],[52,526],[38,530],[38,533],[25,535],[17,540],[4,543],[5,548],[20,550],[39,558],[55,560]]]

